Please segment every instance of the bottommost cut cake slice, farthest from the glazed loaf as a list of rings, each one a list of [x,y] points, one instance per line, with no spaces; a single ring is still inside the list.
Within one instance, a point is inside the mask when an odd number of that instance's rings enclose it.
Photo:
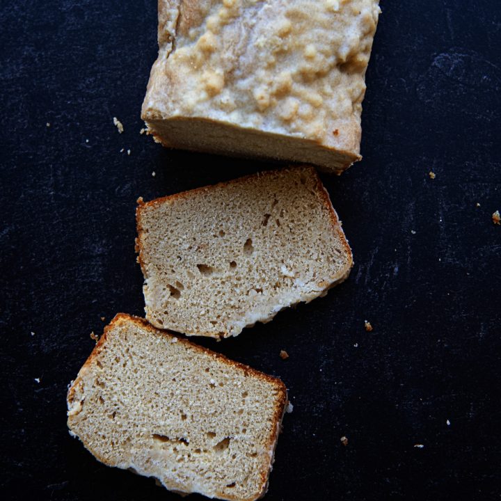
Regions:
[[[67,393],[70,434],[102,463],[223,500],[264,494],[280,379],[118,314]]]

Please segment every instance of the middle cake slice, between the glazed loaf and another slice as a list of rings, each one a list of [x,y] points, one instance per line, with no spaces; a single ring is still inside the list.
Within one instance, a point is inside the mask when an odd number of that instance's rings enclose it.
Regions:
[[[315,168],[274,170],[139,200],[146,318],[238,335],[347,278],[351,250]]]

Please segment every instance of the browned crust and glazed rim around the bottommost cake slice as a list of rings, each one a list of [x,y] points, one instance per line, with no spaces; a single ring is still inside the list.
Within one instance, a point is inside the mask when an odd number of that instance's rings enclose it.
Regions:
[[[84,416],[84,420],[81,420],[81,413],[84,415],[84,397],[88,397],[85,395],[84,387],[87,386],[87,391],[89,390],[89,386],[92,385],[95,388],[94,379],[95,373],[102,372],[102,367],[100,366],[100,354],[103,350],[107,348],[111,337],[114,335],[118,335],[117,331],[120,328],[130,328],[131,326],[136,326],[140,331],[151,333],[154,336],[158,336],[159,338],[163,338],[164,340],[169,340],[170,343],[179,343],[180,345],[184,345],[189,351],[199,353],[200,355],[209,356],[212,358],[217,364],[218,367],[228,367],[230,369],[235,369],[238,372],[241,372],[248,378],[252,378],[254,381],[259,380],[263,383],[266,383],[273,388],[273,392],[275,393],[275,404],[273,417],[271,421],[273,422],[273,427],[271,427],[271,433],[267,438],[266,450],[268,454],[264,455],[264,459],[262,463],[260,463],[260,471],[258,472],[260,477],[260,488],[253,493],[248,493],[245,497],[241,497],[238,495],[231,495],[230,493],[223,491],[204,491],[203,486],[200,487],[196,492],[202,493],[204,495],[209,495],[209,497],[217,497],[223,500],[230,501],[254,501],[258,498],[262,498],[262,496],[267,491],[268,485],[268,477],[269,471],[271,470],[271,464],[273,463],[273,455],[276,448],[276,443],[278,440],[278,433],[280,432],[281,422],[283,420],[283,415],[285,414],[285,408],[287,406],[287,389],[283,381],[275,378],[273,376],[269,376],[260,371],[253,369],[252,367],[248,367],[248,365],[244,365],[234,360],[230,360],[225,356],[221,355],[221,353],[216,353],[212,350],[206,349],[205,347],[200,347],[197,344],[193,344],[188,340],[183,339],[182,337],[175,337],[171,333],[167,331],[159,331],[158,329],[152,327],[148,324],[145,319],[141,319],[138,317],[133,317],[131,315],[126,315],[124,313],[118,313],[116,317],[113,318],[111,323],[104,328],[104,333],[100,337],[100,340],[95,345],[92,353],[81,367],[77,378],[72,381],[70,388],[67,392],[67,406],[68,406],[68,420],[67,426],[70,429],[70,434],[72,436],[78,436],[86,448],[92,452],[92,454],[102,463],[109,466],[118,466],[119,468],[129,468],[132,470],[137,470],[137,472],[141,473],[141,475],[151,476],[152,473],[148,471],[148,468],[143,468],[141,464],[128,464],[127,461],[124,463],[120,461],[120,459],[110,457],[109,454],[104,454],[100,452],[99,445],[96,446],[96,443],[99,443],[100,438],[98,435],[103,433],[104,430],[94,429],[90,430],[90,435],[93,440],[96,440],[93,443],[88,443],[89,431],[84,430],[83,426],[84,422],[88,419],[87,415]],[[159,378],[159,383],[165,383],[165,381]],[[90,405],[90,404],[88,404]],[[168,464],[166,465],[168,468]],[[166,488],[171,491],[177,491],[178,493],[190,493],[192,491],[186,490],[182,484],[171,484],[166,482],[165,479],[160,479],[161,482],[166,486]]]

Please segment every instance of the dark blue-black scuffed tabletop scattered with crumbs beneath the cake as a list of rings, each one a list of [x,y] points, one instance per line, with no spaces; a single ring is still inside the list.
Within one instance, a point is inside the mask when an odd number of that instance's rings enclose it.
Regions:
[[[501,6],[381,3],[364,159],[323,176],[353,248],[349,280],[201,341],[289,388],[268,501],[500,498]],[[139,135],[156,16],[154,0],[1,6],[3,499],[180,499],[102,466],[65,424],[90,331],[143,313],[136,198],[269,167]]]

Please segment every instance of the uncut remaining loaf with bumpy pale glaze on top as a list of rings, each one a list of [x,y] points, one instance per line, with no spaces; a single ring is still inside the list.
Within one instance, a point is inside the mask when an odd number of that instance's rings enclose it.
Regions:
[[[159,0],[143,102],[166,146],[341,173],[360,157],[379,0]]]

